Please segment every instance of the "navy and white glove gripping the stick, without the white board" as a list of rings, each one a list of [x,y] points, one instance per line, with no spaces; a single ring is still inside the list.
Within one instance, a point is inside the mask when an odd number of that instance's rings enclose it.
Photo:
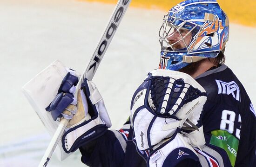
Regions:
[[[59,94],[47,107],[53,119],[70,119],[62,136],[62,147],[66,153],[92,141],[111,127],[111,121],[101,94],[95,84],[86,78],[75,96],[75,76],[67,74],[61,83]]]

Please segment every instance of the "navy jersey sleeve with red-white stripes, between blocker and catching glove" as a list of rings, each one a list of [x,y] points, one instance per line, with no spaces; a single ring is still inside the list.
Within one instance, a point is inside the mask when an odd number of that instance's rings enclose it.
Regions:
[[[92,167],[121,167],[129,126],[126,123],[120,130],[107,130],[101,137],[80,147],[81,161]]]

